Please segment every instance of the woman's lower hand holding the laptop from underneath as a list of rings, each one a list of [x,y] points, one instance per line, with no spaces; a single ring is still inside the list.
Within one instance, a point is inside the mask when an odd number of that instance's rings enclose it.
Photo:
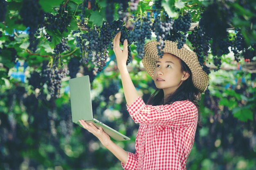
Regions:
[[[92,123],[88,124],[84,120],[79,120],[79,123],[83,126],[83,128],[85,128],[86,130],[91,132],[94,136],[96,136],[99,139],[99,141],[101,142],[101,144],[103,144],[103,146],[105,146],[105,147],[108,146],[111,139],[110,139],[109,135],[103,131],[102,128],[98,129]]]

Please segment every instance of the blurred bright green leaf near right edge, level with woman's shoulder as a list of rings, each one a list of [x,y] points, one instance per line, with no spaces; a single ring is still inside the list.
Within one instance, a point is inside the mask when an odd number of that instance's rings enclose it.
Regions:
[[[239,107],[234,108],[233,110],[234,117],[240,121],[253,120],[253,113],[249,108]]]

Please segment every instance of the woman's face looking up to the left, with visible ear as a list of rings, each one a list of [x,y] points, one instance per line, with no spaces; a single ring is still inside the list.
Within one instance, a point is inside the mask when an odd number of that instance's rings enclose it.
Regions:
[[[181,71],[180,59],[170,53],[164,53],[156,62],[154,82],[157,88],[164,90],[164,96],[173,93],[189,73]]]

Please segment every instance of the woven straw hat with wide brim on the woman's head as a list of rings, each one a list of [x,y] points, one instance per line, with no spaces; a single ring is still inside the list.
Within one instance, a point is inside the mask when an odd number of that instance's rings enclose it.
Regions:
[[[194,86],[198,88],[200,93],[204,93],[209,83],[209,76],[202,70],[198,62],[197,55],[186,44],[184,44],[184,46],[181,49],[177,49],[176,42],[168,40],[164,42],[165,45],[163,52],[171,53],[179,57],[181,60],[183,60],[191,70],[192,81]],[[152,79],[154,77],[155,64],[159,59],[159,56],[157,55],[157,44],[159,44],[159,42],[157,41],[148,42],[145,45],[145,55],[144,58],[142,59],[142,63],[148,74],[152,77]]]

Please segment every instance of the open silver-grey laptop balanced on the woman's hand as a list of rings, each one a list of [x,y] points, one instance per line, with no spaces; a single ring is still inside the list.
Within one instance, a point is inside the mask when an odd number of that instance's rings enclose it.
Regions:
[[[83,119],[87,123],[91,122],[97,128],[101,127],[104,132],[116,141],[130,140],[129,137],[93,118],[89,75],[70,79],[69,86],[73,123],[81,126],[79,120]]]

